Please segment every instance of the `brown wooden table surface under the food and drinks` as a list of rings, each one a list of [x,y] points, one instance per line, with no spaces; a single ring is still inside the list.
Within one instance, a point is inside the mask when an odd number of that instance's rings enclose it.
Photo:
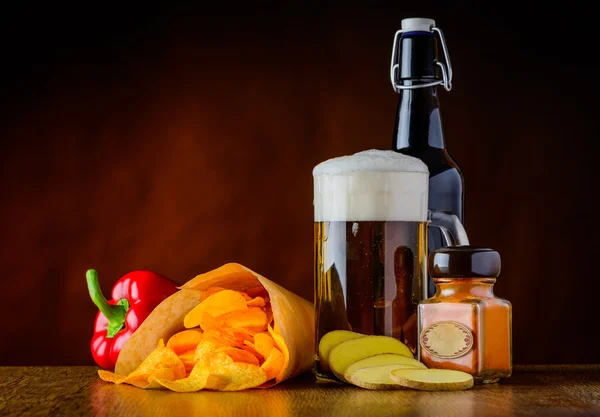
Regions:
[[[516,367],[456,392],[368,391],[304,375],[241,392],[112,385],[95,367],[0,367],[1,416],[600,416],[600,365]]]

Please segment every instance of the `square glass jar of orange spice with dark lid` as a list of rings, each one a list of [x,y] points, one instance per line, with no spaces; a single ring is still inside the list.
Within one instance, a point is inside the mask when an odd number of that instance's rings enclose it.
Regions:
[[[418,306],[420,359],[429,368],[455,369],[476,383],[512,374],[512,307],[496,297],[500,255],[488,248],[451,246],[429,257],[436,286]]]

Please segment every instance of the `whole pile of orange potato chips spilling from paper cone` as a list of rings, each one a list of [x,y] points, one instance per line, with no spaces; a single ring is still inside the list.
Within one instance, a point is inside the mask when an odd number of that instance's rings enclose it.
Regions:
[[[177,392],[239,391],[278,382],[289,352],[263,287],[246,292],[211,287],[173,335],[127,376],[98,371],[100,378],[140,388]]]

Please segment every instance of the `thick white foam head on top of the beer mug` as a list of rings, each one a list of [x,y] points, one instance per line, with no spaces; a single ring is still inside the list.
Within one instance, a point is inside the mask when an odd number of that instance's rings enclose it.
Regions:
[[[421,160],[371,149],[313,169],[315,221],[427,220],[429,171]]]

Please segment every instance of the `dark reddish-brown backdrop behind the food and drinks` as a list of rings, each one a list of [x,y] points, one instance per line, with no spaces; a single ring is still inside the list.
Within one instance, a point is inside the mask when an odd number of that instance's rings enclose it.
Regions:
[[[600,362],[589,11],[301,4],[5,14],[0,365],[93,363],[91,267],[108,293],[236,261],[312,299],[312,167],[391,146],[415,15],[447,37],[447,144],[471,241],[502,255],[515,362]]]

